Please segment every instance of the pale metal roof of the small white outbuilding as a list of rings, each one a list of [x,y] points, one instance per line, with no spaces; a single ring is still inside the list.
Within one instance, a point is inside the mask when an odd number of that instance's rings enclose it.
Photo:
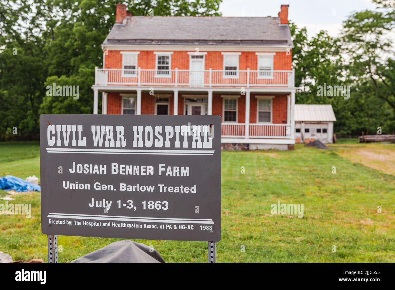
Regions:
[[[332,105],[295,105],[295,121],[335,122]]]

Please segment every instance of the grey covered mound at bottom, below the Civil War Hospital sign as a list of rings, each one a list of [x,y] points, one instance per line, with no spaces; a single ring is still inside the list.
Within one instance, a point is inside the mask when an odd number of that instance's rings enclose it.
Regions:
[[[72,260],[71,263],[165,263],[165,260],[154,248],[125,239]]]

